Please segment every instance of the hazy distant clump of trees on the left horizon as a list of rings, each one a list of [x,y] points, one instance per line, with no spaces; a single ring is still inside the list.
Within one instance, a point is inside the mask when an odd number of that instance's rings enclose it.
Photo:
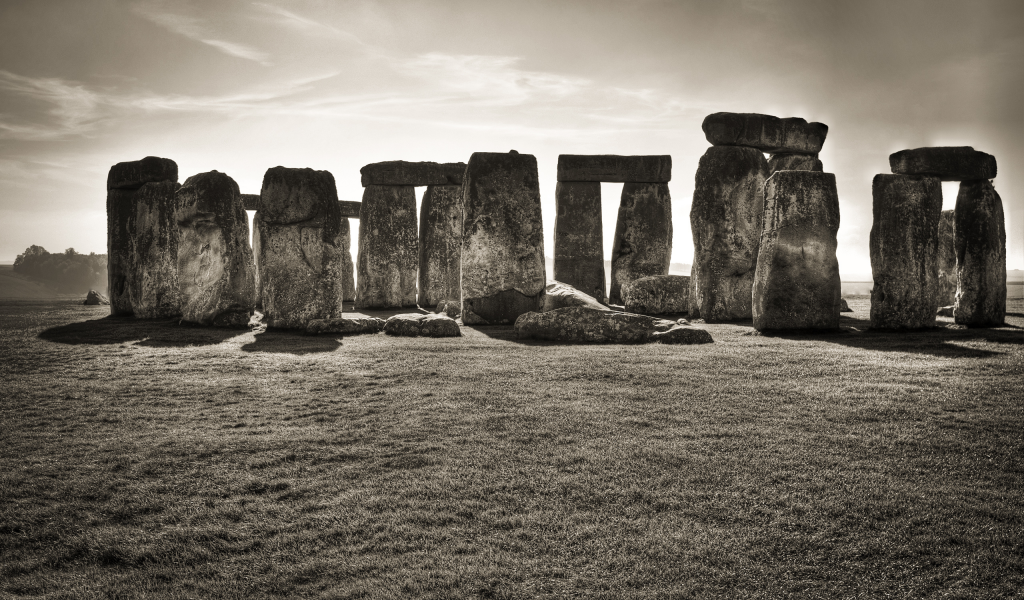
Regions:
[[[106,290],[106,255],[79,254],[74,248],[50,254],[42,246],[30,246],[14,259],[14,272],[53,284],[65,294]]]

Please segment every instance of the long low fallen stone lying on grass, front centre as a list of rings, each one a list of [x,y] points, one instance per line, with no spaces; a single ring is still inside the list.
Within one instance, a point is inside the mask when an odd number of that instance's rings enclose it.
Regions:
[[[684,328],[693,333],[673,331],[677,328]],[[548,312],[527,312],[516,319],[515,332],[520,339],[574,343],[643,344],[654,341],[663,343],[712,341],[707,331],[678,325],[675,322],[586,306],[569,306]],[[672,333],[655,338],[655,334],[669,332]]]

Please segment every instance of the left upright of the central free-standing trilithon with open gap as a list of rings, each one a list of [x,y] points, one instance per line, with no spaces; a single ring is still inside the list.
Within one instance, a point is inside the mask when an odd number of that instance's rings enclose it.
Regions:
[[[554,274],[555,281],[605,301],[607,286],[599,182],[559,181],[555,184]]]

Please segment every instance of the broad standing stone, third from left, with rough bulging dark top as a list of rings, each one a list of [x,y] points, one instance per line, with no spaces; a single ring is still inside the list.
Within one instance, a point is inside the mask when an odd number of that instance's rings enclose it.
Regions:
[[[267,326],[305,329],[310,320],[341,316],[347,225],[330,172],[267,169],[253,219]]]

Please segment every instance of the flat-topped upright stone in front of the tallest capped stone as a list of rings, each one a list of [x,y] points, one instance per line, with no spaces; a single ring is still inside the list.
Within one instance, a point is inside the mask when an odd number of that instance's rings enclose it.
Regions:
[[[753,290],[758,331],[839,329],[838,233],[836,175],[779,171],[768,179]]]

